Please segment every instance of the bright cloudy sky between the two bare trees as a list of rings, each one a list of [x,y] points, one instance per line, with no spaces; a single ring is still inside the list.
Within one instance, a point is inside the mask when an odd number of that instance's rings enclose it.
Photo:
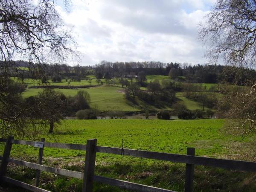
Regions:
[[[106,61],[204,64],[198,23],[214,0],[73,0],[69,12],[81,65]]]

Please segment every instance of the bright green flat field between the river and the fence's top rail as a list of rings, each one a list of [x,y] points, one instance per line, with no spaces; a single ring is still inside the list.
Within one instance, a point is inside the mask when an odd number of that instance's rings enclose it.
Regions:
[[[47,141],[84,144],[87,139],[96,138],[98,145],[120,147],[123,140],[125,148],[184,154],[186,147],[195,147],[196,155],[215,157],[233,150],[227,147],[228,143],[245,142],[249,138],[223,134],[220,131],[223,122],[222,119],[64,120],[58,125],[55,137]],[[77,156],[77,151],[47,148],[44,155]]]

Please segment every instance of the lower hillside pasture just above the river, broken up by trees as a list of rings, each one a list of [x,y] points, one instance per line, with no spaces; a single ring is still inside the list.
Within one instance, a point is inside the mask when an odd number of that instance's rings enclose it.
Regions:
[[[136,99],[137,104],[127,101],[124,97],[124,89],[118,86],[100,86],[90,87],[83,89],[54,89],[60,91],[66,96],[75,96],[79,90],[86,90],[90,94],[91,107],[96,107],[99,111],[141,111],[145,108],[151,110],[159,110],[156,106],[149,105],[139,99]],[[23,92],[23,97],[35,96],[42,89],[30,88]],[[180,99],[189,110],[202,109],[200,103],[187,99],[183,96],[183,93],[176,93],[177,99]],[[172,108],[166,106],[166,110],[172,110]]]

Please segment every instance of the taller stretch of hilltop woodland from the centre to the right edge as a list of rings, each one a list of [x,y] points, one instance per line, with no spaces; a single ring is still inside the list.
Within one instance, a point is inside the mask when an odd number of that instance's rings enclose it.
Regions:
[[[248,68],[239,68],[223,65],[191,65],[170,62],[107,62],[102,61],[94,66],[98,79],[112,77],[134,77],[141,71],[145,75],[169,75],[177,81],[192,83],[230,83],[236,85],[252,85],[256,81],[256,71]],[[184,78],[185,77],[185,78]]]

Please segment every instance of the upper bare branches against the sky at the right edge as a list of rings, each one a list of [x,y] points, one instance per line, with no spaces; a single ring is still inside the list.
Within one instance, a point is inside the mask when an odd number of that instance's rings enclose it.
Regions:
[[[209,61],[224,58],[227,64],[256,65],[255,0],[217,0],[205,18],[199,38],[207,45]]]

